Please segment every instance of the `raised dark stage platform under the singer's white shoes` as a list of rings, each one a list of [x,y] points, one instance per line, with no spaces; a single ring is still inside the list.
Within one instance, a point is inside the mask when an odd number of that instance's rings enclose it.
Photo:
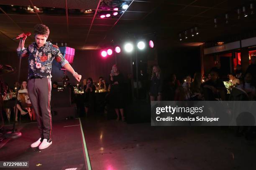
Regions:
[[[90,162],[86,159],[87,150],[79,119],[54,122],[53,143],[45,150],[30,148],[31,143],[39,138],[36,122],[18,124],[17,128],[22,133],[20,138],[5,139],[0,143],[0,161],[29,161],[29,170],[88,169],[87,164],[90,165]]]

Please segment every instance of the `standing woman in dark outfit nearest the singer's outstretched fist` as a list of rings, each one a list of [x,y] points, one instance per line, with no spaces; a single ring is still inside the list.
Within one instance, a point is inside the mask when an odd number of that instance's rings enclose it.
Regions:
[[[92,82],[92,78],[87,78],[87,85],[84,85],[84,106],[86,115],[89,111],[89,108],[94,107],[95,90],[96,87]]]

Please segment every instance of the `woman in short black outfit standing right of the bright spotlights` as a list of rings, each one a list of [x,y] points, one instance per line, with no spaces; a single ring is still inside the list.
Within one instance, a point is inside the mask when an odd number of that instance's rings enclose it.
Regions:
[[[160,101],[162,97],[162,77],[161,77],[161,70],[158,66],[153,66],[153,71],[151,75],[151,82],[150,82],[150,100]]]

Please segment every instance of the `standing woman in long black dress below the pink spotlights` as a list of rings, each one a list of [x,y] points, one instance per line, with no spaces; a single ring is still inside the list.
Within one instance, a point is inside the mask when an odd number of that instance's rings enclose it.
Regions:
[[[123,115],[123,80],[123,74],[119,72],[118,67],[116,65],[113,65],[110,73],[110,104],[113,108],[115,108],[115,113],[117,115],[116,120],[119,120],[120,111],[122,121],[125,121],[125,117]]]

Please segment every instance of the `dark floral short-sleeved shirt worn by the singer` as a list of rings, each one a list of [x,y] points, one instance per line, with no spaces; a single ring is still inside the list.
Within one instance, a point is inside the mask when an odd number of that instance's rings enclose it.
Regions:
[[[21,52],[21,57],[28,56],[28,79],[32,77],[51,78],[51,65],[54,59],[62,67],[68,63],[59,51],[59,48],[51,44],[51,42],[46,42],[43,47],[39,48],[37,48],[36,42],[33,42]]]

